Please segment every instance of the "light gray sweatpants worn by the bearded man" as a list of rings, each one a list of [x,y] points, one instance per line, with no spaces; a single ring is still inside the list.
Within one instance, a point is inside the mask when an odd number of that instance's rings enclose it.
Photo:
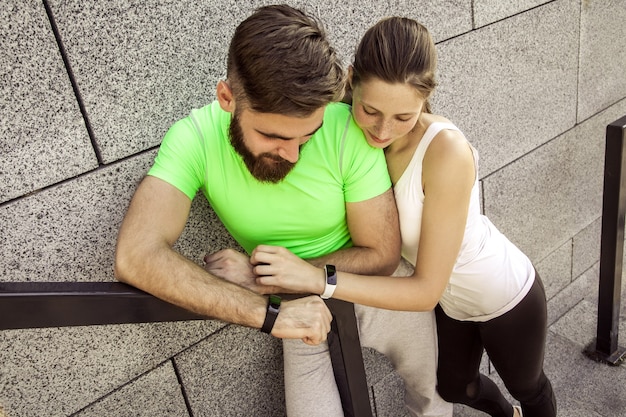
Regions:
[[[413,416],[450,417],[452,404],[439,397],[434,312],[414,313],[355,305],[361,345],[389,358],[404,380]],[[289,417],[343,416],[328,344],[283,340],[285,398]]]

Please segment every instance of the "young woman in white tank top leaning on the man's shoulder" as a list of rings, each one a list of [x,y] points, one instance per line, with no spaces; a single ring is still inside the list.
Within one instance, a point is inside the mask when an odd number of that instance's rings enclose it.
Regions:
[[[426,28],[394,17],[367,31],[350,68],[354,118],[369,144],[385,150],[413,275],[338,272],[333,287],[287,250],[259,246],[251,258],[258,283],[325,295],[334,288],[333,297],[393,310],[435,308],[445,400],[491,416],[556,416],[543,372],[543,285],[530,260],[480,214],[478,154],[430,112],[435,66]],[[483,349],[521,407],[479,373]]]

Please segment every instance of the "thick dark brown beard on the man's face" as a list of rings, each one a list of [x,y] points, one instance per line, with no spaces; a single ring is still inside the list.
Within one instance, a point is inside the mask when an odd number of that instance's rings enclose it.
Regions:
[[[296,165],[278,155],[264,152],[255,156],[246,146],[243,131],[239,123],[237,112],[233,115],[229,129],[230,143],[235,151],[241,155],[248,171],[261,182],[277,183],[282,181]]]

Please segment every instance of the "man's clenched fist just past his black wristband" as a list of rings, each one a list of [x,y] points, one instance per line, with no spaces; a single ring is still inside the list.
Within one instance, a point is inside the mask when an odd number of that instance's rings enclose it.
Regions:
[[[272,335],[318,345],[328,337],[332,319],[326,303],[316,295],[283,301]]]

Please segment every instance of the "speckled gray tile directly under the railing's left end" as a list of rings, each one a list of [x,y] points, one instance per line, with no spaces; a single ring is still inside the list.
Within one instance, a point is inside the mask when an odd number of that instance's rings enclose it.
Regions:
[[[0,403],[12,417],[67,416],[222,326],[207,320],[4,330]]]

